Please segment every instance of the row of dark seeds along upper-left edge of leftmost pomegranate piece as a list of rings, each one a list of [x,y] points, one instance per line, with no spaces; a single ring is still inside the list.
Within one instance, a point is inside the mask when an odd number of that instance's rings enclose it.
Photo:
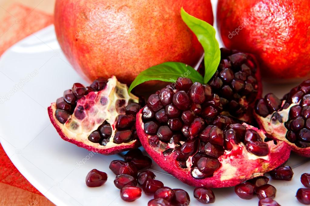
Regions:
[[[76,107],[78,99],[87,95],[92,91],[100,91],[107,85],[107,80],[104,78],[98,78],[90,86],[86,88],[80,83],[74,83],[72,88],[64,91],[64,96],[56,100],[56,112],[55,117],[61,123],[64,124]]]

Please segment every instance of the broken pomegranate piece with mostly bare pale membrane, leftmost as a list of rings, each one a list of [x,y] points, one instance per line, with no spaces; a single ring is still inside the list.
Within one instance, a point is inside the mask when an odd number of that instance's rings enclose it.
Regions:
[[[48,107],[48,114],[65,141],[93,152],[115,154],[140,145],[135,131],[138,102],[113,76],[99,78],[86,88],[75,83]]]

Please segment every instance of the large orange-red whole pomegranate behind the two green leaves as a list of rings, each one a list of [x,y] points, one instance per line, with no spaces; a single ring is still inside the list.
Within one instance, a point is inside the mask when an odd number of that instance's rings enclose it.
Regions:
[[[166,61],[197,63],[203,49],[181,19],[182,6],[213,24],[210,0],[56,0],[55,32],[84,78],[113,74],[129,84],[144,69]]]

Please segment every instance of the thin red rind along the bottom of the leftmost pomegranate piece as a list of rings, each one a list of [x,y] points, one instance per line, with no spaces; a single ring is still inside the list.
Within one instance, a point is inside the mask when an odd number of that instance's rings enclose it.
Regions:
[[[78,147],[82,147],[85,148],[91,152],[95,152],[95,153],[101,153],[101,154],[105,154],[105,155],[111,155],[111,154],[117,154],[123,151],[127,151],[130,149],[134,149],[134,148],[138,148],[140,146],[140,143],[138,140],[134,140],[132,144],[127,144],[127,143],[123,143],[117,146],[113,146],[110,148],[104,148],[104,149],[100,149],[100,148],[96,148],[96,147],[92,147],[90,145],[86,145],[81,141],[75,140],[75,139],[70,139],[68,138],[64,132],[60,129],[60,125],[61,123],[55,118],[55,111],[56,111],[56,104],[52,103],[51,106],[49,106],[47,108],[48,111],[48,116],[50,117],[51,123],[53,124],[53,126],[55,127],[56,131],[58,132],[58,134],[60,135],[60,137],[65,140],[68,141],[70,143],[73,143],[75,145],[77,145]]]

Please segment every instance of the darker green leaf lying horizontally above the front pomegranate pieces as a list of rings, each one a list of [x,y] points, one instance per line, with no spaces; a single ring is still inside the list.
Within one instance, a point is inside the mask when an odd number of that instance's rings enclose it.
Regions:
[[[165,62],[142,71],[131,83],[128,92],[135,86],[150,80],[176,82],[179,77],[190,78],[193,82],[203,83],[203,77],[193,67],[181,62]]]

